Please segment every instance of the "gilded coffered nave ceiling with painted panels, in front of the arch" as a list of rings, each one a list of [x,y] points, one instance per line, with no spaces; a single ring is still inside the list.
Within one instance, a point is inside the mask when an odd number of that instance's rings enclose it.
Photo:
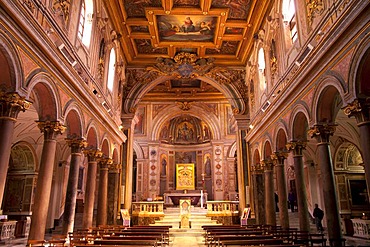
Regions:
[[[106,0],[128,66],[155,64],[180,52],[244,66],[253,37],[274,1]]]

